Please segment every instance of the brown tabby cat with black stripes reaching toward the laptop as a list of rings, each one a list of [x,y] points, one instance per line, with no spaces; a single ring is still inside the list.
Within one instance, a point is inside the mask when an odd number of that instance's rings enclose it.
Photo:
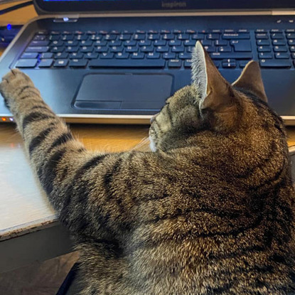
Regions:
[[[11,70],[0,89],[41,184],[80,250],[81,294],[295,294],[294,189],[259,66],[230,85],[200,43],[154,152],[86,151]]]

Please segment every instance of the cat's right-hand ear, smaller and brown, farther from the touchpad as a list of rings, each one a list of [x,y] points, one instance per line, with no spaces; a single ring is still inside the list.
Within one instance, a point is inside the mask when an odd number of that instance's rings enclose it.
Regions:
[[[232,86],[248,90],[261,100],[264,100],[264,102],[267,102],[259,64],[254,60],[247,63],[242,74],[232,83]]]

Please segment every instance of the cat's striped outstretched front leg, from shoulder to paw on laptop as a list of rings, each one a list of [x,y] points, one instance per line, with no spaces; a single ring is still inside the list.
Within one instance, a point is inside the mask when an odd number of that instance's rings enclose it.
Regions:
[[[70,230],[94,236],[100,232],[101,236],[102,231],[117,235],[127,228],[136,216],[132,213],[136,206],[129,203],[136,173],[129,169],[139,154],[87,151],[19,70],[3,78],[0,92],[41,185]]]

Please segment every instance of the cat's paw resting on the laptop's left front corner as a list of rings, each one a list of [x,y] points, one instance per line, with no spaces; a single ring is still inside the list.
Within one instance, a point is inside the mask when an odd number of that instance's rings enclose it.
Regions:
[[[24,90],[34,87],[32,80],[25,73],[14,69],[2,77],[0,93],[4,97],[6,105],[21,97]]]

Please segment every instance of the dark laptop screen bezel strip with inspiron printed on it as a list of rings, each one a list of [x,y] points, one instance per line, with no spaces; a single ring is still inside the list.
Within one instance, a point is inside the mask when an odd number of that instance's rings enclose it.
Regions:
[[[295,9],[294,0],[95,0],[44,1],[34,0],[38,11],[47,13],[99,13],[134,11],[222,11]]]

